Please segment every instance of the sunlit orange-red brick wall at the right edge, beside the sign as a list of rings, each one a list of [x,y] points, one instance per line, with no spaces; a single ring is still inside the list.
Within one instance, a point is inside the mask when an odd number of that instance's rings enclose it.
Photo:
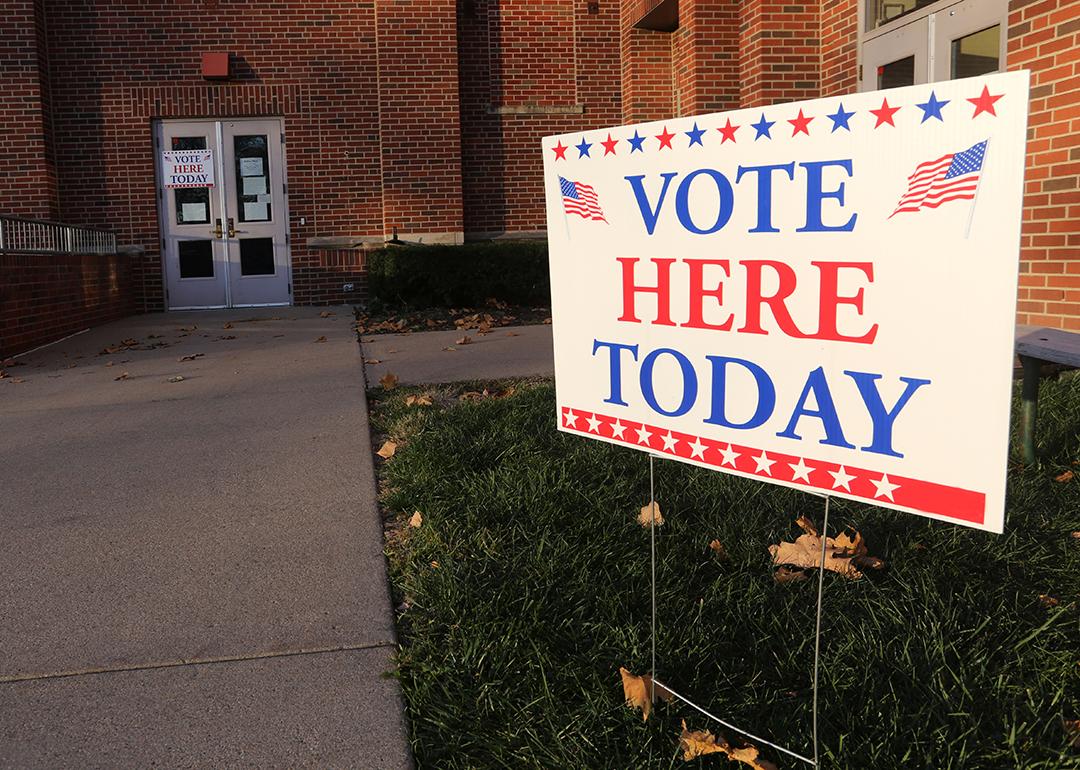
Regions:
[[[1009,69],[1031,70],[1017,319],[1080,332],[1080,9],[1009,9]]]

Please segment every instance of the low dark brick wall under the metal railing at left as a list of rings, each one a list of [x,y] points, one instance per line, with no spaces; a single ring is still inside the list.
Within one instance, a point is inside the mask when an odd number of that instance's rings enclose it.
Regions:
[[[0,359],[135,312],[127,257],[0,254]]]

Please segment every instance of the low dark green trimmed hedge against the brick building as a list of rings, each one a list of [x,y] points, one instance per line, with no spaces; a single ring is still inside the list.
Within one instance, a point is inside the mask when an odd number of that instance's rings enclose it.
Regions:
[[[390,307],[476,307],[551,302],[548,244],[543,241],[397,246],[367,260],[372,303]]]

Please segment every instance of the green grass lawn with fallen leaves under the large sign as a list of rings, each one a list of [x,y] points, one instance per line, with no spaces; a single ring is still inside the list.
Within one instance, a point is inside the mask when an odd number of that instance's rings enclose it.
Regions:
[[[1080,719],[1080,376],[1042,388],[1043,461],[1014,457],[1004,535],[833,501],[831,533],[858,528],[887,568],[825,578],[823,767],[1080,768],[1064,725]],[[680,719],[718,726],[677,703],[643,724],[619,677],[649,667],[648,459],[558,433],[549,382],[459,398],[476,389],[423,389],[431,407],[370,394],[379,440],[400,443],[380,484],[419,765],[687,766]],[[809,754],[816,580],[777,583],[767,549],[798,514],[820,525],[822,501],[670,461],[657,500],[659,677]]]

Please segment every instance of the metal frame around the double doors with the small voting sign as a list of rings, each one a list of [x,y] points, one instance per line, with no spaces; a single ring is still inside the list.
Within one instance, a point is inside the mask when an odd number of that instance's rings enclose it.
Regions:
[[[285,158],[285,119],[282,116],[242,116],[242,117],[228,117],[228,118],[154,118],[153,125],[151,130],[151,147],[153,154],[153,178],[154,178],[154,203],[158,210],[158,243],[161,244],[161,278],[162,287],[165,291],[165,309],[166,310],[219,310],[221,306],[219,305],[205,305],[205,306],[184,306],[184,307],[172,307],[168,301],[168,265],[165,259],[165,226],[166,218],[168,215],[167,205],[165,204],[165,186],[164,179],[161,176],[161,152],[163,150],[162,146],[162,126],[166,123],[213,123],[214,124],[214,138],[217,141],[217,158],[215,159],[214,174],[218,179],[218,183],[214,186],[216,192],[219,195],[218,207],[221,211],[222,218],[226,208],[226,192],[225,192],[225,151],[221,149],[225,146],[224,136],[221,133],[221,124],[226,121],[276,121],[279,125],[279,137],[281,145],[281,184],[283,186],[282,194],[282,217],[285,231],[285,280],[286,280],[286,292],[287,299],[284,302],[259,302],[254,305],[233,305],[232,303],[232,287],[230,285],[230,272],[231,268],[229,265],[229,249],[228,241],[225,241],[225,301],[226,308],[287,308],[293,305],[293,297],[295,296],[293,292],[293,239],[289,235],[289,214],[288,214],[288,172]],[[268,156],[269,160],[269,156]],[[218,175],[218,173],[220,174]],[[214,194],[214,193],[211,193]]]

